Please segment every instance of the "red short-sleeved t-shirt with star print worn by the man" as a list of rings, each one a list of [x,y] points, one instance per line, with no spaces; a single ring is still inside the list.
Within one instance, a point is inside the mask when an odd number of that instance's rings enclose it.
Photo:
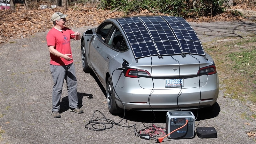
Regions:
[[[70,39],[75,38],[75,36],[70,36],[75,32],[69,28],[62,28],[62,32],[56,28],[52,28],[46,35],[47,46],[54,46],[54,48],[62,54],[71,54],[69,57],[72,58]],[[69,65],[74,60],[65,60],[64,58],[57,57],[50,53],[52,65]]]

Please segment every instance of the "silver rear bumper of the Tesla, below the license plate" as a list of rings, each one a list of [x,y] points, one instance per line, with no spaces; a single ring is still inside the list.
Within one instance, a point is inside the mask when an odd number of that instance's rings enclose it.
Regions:
[[[219,81],[218,76],[216,80],[216,76],[210,76],[208,80],[211,81],[200,88],[150,90],[142,89],[137,83],[132,83],[129,89],[125,89],[125,86],[116,87],[116,103],[118,107],[125,107],[127,110],[152,110],[153,108],[156,111],[165,111],[210,107],[219,95]]]

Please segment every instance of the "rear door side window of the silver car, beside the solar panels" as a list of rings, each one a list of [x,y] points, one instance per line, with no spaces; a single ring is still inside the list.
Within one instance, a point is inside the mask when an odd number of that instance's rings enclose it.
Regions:
[[[114,49],[118,50],[118,51],[126,51],[127,45],[124,41],[124,36],[122,36],[120,30],[118,28],[115,28],[113,30],[113,33],[111,35],[109,35],[109,41],[108,41],[108,45],[113,47]]]

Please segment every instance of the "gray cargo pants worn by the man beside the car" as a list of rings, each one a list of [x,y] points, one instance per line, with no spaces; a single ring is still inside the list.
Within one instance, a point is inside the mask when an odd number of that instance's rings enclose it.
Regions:
[[[52,87],[52,111],[60,110],[60,97],[64,79],[67,83],[69,108],[76,108],[78,104],[78,98],[76,91],[77,81],[74,64],[71,63],[67,66],[50,65],[50,70],[54,83]]]

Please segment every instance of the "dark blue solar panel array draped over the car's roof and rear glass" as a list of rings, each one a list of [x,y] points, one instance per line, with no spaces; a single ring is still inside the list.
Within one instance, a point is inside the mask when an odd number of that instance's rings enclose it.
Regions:
[[[135,58],[153,55],[205,55],[193,28],[182,17],[142,16],[117,19]]]

